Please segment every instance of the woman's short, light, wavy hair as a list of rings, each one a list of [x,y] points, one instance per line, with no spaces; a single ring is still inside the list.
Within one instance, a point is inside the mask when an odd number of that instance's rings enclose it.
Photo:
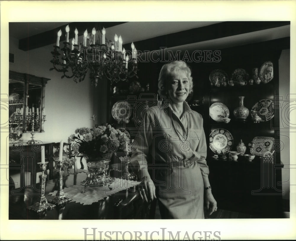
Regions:
[[[180,70],[183,70],[186,73],[190,86],[189,93],[192,91],[193,82],[191,77],[191,69],[184,61],[174,61],[168,64],[164,64],[160,70],[158,78],[158,94],[160,96],[167,96],[168,80],[170,80],[173,74]]]

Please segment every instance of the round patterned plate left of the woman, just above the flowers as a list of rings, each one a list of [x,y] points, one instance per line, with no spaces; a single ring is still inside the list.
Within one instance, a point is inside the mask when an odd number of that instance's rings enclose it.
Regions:
[[[119,123],[129,122],[132,114],[131,105],[126,101],[117,101],[112,107],[112,117]]]

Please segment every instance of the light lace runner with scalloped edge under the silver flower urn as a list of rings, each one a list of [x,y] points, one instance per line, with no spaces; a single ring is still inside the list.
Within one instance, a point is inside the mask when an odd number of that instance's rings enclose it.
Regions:
[[[74,185],[72,187],[65,187],[64,193],[67,198],[73,198],[73,202],[81,203],[83,205],[90,205],[94,202],[102,200],[107,196],[110,196],[114,193],[118,193],[121,190],[125,190],[129,187],[138,185],[140,182],[125,180],[116,178],[115,181],[110,184],[112,190],[108,186],[103,187],[87,187],[85,193],[81,193],[84,189],[82,185]],[[49,195],[55,196],[57,191],[49,193]]]

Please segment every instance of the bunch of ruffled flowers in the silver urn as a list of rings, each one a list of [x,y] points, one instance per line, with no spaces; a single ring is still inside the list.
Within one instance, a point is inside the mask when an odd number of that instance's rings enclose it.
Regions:
[[[129,142],[130,135],[126,130],[115,129],[110,124],[95,125],[94,128],[77,128],[75,134],[68,138],[74,153],[92,158],[100,158],[104,154],[115,152],[118,148],[127,150]]]

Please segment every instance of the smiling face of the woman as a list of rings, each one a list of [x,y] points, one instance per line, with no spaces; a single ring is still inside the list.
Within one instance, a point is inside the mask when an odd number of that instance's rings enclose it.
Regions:
[[[180,103],[186,100],[190,85],[185,71],[179,70],[173,73],[167,86],[168,97],[173,103]]]

